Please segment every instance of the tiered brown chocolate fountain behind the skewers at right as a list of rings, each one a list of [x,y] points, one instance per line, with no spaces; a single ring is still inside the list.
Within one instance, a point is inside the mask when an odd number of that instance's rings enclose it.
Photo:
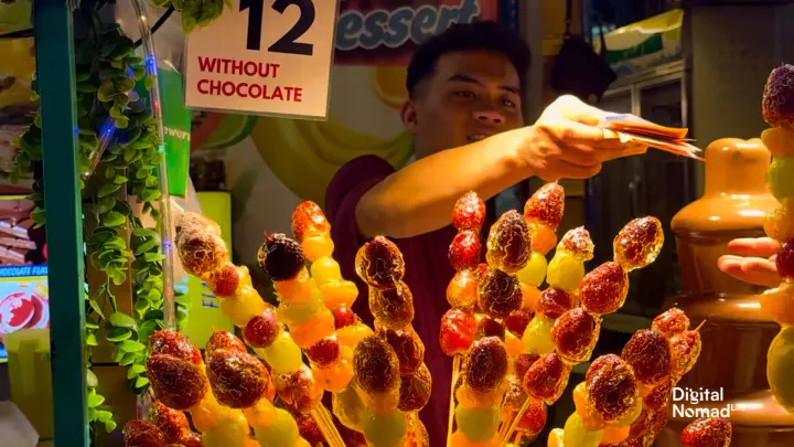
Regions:
[[[684,407],[731,408],[732,447],[794,445],[794,415],[772,397],[766,382],[766,350],[780,327],[761,313],[763,288],[739,281],[717,268],[737,237],[762,237],[764,214],[776,207],[764,174],[771,156],[760,139],[723,138],[706,149],[706,185],[700,200],[673,219],[683,291],[665,307],[679,307],[700,329],[702,353],[679,387],[719,392],[722,402]],[[658,446],[680,446],[680,430],[693,417],[672,415]]]

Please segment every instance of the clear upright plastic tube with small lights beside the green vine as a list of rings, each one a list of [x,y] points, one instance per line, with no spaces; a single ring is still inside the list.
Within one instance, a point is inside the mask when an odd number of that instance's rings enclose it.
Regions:
[[[169,195],[168,166],[165,162],[165,135],[162,124],[162,107],[160,104],[160,84],[158,81],[158,60],[154,52],[149,19],[146,4],[142,0],[132,0],[138,28],[143,44],[144,64],[147,76],[152,76],[153,83],[149,89],[149,100],[157,123],[158,136],[160,138],[160,153],[163,156],[158,167],[158,179],[160,181],[160,238],[162,240],[163,254],[163,319],[168,329],[174,330],[174,288],[173,288],[173,228],[171,225],[171,198]]]

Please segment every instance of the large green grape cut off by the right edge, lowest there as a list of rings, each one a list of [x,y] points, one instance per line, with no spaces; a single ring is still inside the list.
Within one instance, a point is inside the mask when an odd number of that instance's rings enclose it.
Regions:
[[[794,327],[785,326],[766,353],[766,380],[779,404],[794,413]]]

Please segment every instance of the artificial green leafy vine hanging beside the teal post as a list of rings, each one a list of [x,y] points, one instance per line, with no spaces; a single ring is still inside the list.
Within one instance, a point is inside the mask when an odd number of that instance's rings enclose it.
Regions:
[[[138,94],[151,88],[154,79],[147,76],[143,61],[136,56],[135,43],[122,35],[118,24],[103,24],[95,4],[84,1],[76,13],[76,23],[81,31],[76,33],[75,44],[81,173],[88,173],[93,168],[92,157],[96,156],[100,140],[110,139],[87,182],[79,179],[84,200],[93,205],[88,212],[90,220],[96,224],[86,235],[87,256],[106,276],[101,286],[86,294],[87,358],[90,362],[92,348],[99,343],[97,334],[104,329],[106,340],[114,344],[112,361],[129,366],[130,390],[142,394],[149,389],[144,372],[149,337],[165,327],[160,214],[152,205],[160,199],[157,167],[162,153],[154,117],[144,99],[147,95]],[[37,92],[35,82],[34,92]],[[12,181],[30,172],[31,162],[41,161],[41,117],[36,114],[33,125],[19,139],[14,169],[8,172]],[[30,195],[36,204],[31,216],[37,226],[45,222],[41,191],[40,179]],[[152,217],[154,227],[147,227],[132,213],[122,199],[125,194],[142,203],[142,213]],[[130,259],[131,268],[128,268]],[[132,285],[132,316],[119,311],[111,289],[127,280]],[[176,322],[181,327],[186,310],[184,298],[180,298]],[[108,316],[103,311],[106,307],[111,310]],[[112,432],[117,424],[112,414],[103,407],[105,397],[96,392],[98,381],[90,363],[87,382],[92,426],[104,424],[107,432]]]

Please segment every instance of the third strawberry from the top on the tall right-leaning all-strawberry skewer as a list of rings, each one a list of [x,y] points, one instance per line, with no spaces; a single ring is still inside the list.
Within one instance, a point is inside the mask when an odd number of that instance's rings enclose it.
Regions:
[[[557,354],[569,363],[590,360],[601,331],[600,320],[580,307],[562,313],[551,328]]]

